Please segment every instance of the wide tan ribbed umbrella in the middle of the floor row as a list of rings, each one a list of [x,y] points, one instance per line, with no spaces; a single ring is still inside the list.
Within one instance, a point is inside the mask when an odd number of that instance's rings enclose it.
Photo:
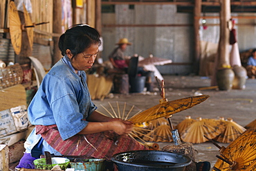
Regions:
[[[186,143],[204,143],[208,138],[215,138],[221,134],[221,125],[215,119],[196,118],[187,129],[181,132],[181,140]]]

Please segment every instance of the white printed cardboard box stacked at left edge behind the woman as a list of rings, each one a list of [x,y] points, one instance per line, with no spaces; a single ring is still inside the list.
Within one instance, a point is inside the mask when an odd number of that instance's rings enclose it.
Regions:
[[[30,126],[25,105],[0,111],[0,138],[26,130]]]

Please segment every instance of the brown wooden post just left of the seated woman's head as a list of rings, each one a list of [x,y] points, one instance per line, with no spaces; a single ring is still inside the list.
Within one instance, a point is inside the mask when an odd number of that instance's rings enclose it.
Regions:
[[[53,1],[53,33],[62,33],[62,0]],[[62,58],[58,42],[60,37],[53,37],[52,66]]]

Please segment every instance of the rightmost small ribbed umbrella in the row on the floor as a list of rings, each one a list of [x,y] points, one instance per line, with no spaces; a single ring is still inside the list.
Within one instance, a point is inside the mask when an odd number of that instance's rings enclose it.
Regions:
[[[216,141],[219,143],[231,143],[245,131],[244,127],[235,123],[232,118],[228,118],[225,130],[219,134]]]

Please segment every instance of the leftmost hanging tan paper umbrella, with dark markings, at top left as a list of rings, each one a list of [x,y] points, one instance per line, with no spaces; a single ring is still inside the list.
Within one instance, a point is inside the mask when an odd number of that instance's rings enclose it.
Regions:
[[[10,1],[9,10],[9,29],[10,29],[10,40],[15,53],[19,55],[21,52],[21,21],[19,19],[19,12],[15,6],[14,1]]]

